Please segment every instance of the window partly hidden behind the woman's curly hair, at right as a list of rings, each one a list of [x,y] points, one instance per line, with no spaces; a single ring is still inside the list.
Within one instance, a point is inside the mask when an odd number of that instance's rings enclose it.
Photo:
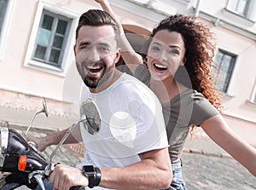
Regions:
[[[227,93],[232,72],[235,67],[237,55],[232,55],[227,51],[218,49],[215,57],[215,65],[212,69],[212,75],[216,78],[215,84],[218,90]]]

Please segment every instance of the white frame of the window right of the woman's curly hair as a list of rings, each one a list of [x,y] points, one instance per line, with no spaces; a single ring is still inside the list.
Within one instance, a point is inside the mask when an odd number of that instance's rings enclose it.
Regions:
[[[233,97],[234,93],[232,92],[232,86],[233,86],[233,83],[234,83],[234,76],[236,76],[236,72],[238,72],[237,71],[237,67],[238,67],[239,62],[240,62],[239,61],[240,60],[240,55],[239,55],[239,53],[235,52],[234,50],[226,49],[224,47],[217,46],[215,54],[214,54],[214,58],[213,58],[214,61],[216,60],[216,56],[218,54],[218,51],[226,52],[227,55],[234,55],[234,56],[236,56],[236,60],[234,62],[234,67],[233,67],[233,70],[232,70],[232,72],[230,74],[230,82],[229,82],[229,84],[227,86],[227,90],[226,90],[226,92],[221,91],[221,93],[224,93],[224,95]],[[214,78],[214,76],[213,76],[213,78]]]

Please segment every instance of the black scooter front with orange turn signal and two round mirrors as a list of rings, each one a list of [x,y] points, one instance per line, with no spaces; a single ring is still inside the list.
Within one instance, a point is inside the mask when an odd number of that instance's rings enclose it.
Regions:
[[[11,189],[15,189],[23,185],[31,189],[35,189],[39,185],[42,190],[45,190],[43,181],[48,179],[55,168],[52,158],[75,126],[83,123],[84,127],[87,128],[86,130],[88,130],[90,134],[94,134],[100,129],[101,118],[94,102],[85,100],[82,104],[82,111],[84,112],[84,115],[79,119],[79,121],[75,122],[69,130],[67,130],[67,133],[51,153],[49,161],[44,158],[43,153],[38,151],[35,143],[26,141],[28,131],[32,126],[34,118],[41,112],[44,112],[46,117],[48,117],[45,99],[43,99],[43,109],[33,116],[32,121],[26,130],[25,137],[8,127],[0,130],[0,171],[10,173],[10,175],[6,177],[5,181],[6,183],[16,184],[15,187],[12,187]],[[84,187],[71,187],[70,189],[80,190],[84,189]]]

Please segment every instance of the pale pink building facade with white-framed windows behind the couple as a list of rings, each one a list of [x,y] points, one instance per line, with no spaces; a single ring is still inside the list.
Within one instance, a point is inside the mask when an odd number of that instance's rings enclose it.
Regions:
[[[140,49],[144,36],[170,14],[193,14],[209,26],[217,47],[212,72],[223,93],[224,118],[256,146],[256,1],[109,2],[135,49]],[[81,80],[73,44],[79,15],[88,9],[101,8],[94,0],[0,0],[2,110],[31,112],[45,97],[52,115],[78,116]],[[0,120],[9,117],[0,112]]]

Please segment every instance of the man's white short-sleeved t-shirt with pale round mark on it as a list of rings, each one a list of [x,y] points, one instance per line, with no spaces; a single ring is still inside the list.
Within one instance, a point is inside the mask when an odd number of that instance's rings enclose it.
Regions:
[[[96,103],[102,121],[94,135],[81,124],[86,151],[78,168],[85,164],[124,167],[139,162],[140,153],[168,147],[160,101],[137,78],[123,73],[108,89],[96,94],[84,86],[81,102],[88,98]]]

